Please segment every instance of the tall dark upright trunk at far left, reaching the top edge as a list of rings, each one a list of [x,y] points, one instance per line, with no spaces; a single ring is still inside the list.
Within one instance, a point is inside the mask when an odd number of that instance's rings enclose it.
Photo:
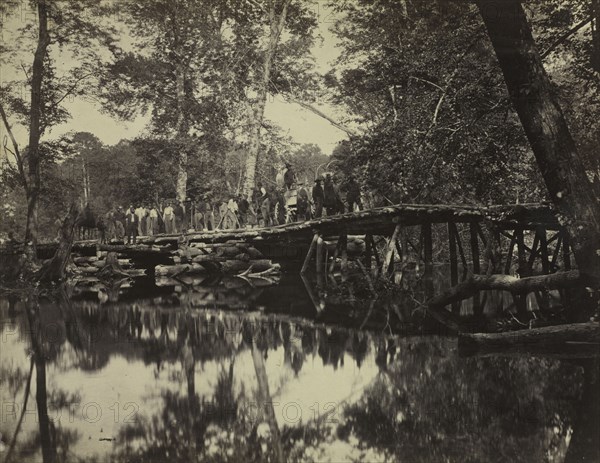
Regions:
[[[42,81],[44,78],[44,58],[50,44],[48,33],[48,5],[45,0],[38,0],[38,41],[33,58],[31,73],[31,107],[29,111],[29,167],[27,189],[27,228],[25,240],[31,242],[33,250],[37,248],[38,238],[38,200],[40,194],[40,137],[42,135]],[[33,252],[35,256],[36,253]]]

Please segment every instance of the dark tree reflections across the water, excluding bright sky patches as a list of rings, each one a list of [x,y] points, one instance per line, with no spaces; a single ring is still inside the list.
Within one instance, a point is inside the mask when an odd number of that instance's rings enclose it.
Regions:
[[[62,362],[65,342],[77,351],[75,363],[65,369],[97,370],[117,353],[142,358],[159,370],[165,363],[182,365],[187,388],[164,391],[159,409],[121,428],[115,461],[306,461],[306,447],[351,437],[388,452],[392,460],[462,462],[472,455],[471,461],[525,462],[543,461],[549,452],[557,457],[554,461],[562,461],[571,432],[569,461],[583,454],[594,461],[597,363],[581,375],[573,365],[550,360],[461,359],[452,354],[452,341],[443,338],[381,337],[258,313],[194,313],[136,303],[100,309],[82,301],[63,301],[58,310],[57,304],[43,304],[42,310],[32,306],[29,321],[23,317],[19,322],[34,352],[36,400],[42,406],[39,432],[18,439],[13,461],[31,460],[40,448],[45,461],[73,458],[69,449],[79,436],[46,419],[48,408],[43,408],[44,403],[65,407],[75,400],[60,391],[46,392],[46,365]],[[65,335],[44,344],[39,333],[50,320]],[[310,356],[335,369],[349,358],[360,366],[369,352],[380,373],[358,402],[338,404],[339,425],[309,420],[278,428],[269,415],[272,409],[259,413],[247,406],[270,400],[264,359],[274,349],[283,349],[284,365],[296,375]],[[257,376],[256,396],[244,386],[234,388],[234,359],[247,350]],[[207,361],[219,365],[218,380],[208,396],[199,396],[194,373],[197,364]],[[26,384],[28,366],[13,371],[15,393],[23,392],[18,384]]]

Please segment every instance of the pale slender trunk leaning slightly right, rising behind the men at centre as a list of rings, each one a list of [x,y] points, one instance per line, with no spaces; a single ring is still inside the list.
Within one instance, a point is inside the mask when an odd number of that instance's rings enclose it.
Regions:
[[[269,80],[271,78],[271,67],[273,57],[279,44],[281,32],[285,26],[287,9],[291,0],[283,0],[281,12],[276,12],[276,0],[269,2],[269,41],[263,58],[263,68],[261,80],[258,82],[256,90],[256,103],[252,114],[252,123],[250,125],[250,143],[248,146],[248,157],[246,159],[246,179],[244,181],[244,196],[250,198],[254,190],[254,179],[256,176],[256,163],[260,152],[260,130],[265,116],[265,105],[269,93]]]

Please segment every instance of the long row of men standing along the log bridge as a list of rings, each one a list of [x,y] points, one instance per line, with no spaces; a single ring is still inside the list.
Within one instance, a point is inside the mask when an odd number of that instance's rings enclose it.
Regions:
[[[217,200],[205,195],[195,200],[117,206],[100,217],[95,216],[88,204],[83,216],[91,225],[88,228],[97,228],[103,240],[135,244],[138,236],[268,227],[356,209],[362,209],[361,192],[352,176],[341,186],[339,179],[326,174],[317,178],[309,189],[297,181],[292,166],[287,163],[273,185],[265,188],[258,182],[247,199],[241,194]]]

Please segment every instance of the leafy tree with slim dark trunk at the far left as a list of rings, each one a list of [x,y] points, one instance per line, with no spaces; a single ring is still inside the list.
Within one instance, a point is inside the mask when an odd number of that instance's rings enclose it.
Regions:
[[[102,10],[97,2],[32,0],[26,6],[34,14],[22,15],[26,22],[12,31],[13,45],[3,45],[2,65],[7,64],[8,57],[30,55],[34,49],[32,64],[24,68],[25,83],[11,81],[0,88],[0,116],[11,139],[11,152],[27,196],[25,238],[35,250],[45,156],[41,139],[48,128],[69,117],[62,106],[65,99],[85,93],[83,83],[95,74],[98,47],[112,46],[112,29],[97,21]],[[4,5],[3,9],[20,7],[15,2]],[[59,69],[57,53],[72,54],[75,58],[72,62],[76,64]],[[19,95],[18,89],[22,87],[30,89],[29,99]],[[28,127],[27,153],[22,152],[13,136],[11,124],[15,122]]]

